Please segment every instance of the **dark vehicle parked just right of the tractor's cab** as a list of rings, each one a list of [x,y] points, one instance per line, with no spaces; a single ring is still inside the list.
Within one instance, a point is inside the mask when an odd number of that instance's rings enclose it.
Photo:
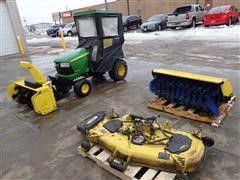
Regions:
[[[125,32],[132,28],[139,29],[142,24],[141,16],[123,16],[122,20],[123,20],[123,29]]]

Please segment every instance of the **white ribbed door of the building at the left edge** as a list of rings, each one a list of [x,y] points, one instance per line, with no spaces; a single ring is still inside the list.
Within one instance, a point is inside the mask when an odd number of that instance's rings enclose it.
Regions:
[[[0,0],[0,56],[18,52],[17,39],[11,24],[6,1]]]

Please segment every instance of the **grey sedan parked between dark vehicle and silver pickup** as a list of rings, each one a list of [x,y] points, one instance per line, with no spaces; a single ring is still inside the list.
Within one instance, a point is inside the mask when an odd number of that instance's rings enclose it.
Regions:
[[[166,14],[154,15],[141,25],[141,31],[161,31],[162,29],[167,28],[167,21],[168,16]]]

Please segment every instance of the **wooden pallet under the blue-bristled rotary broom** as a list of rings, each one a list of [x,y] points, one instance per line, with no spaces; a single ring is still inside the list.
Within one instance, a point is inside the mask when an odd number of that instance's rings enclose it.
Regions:
[[[236,96],[233,96],[227,103],[220,105],[220,115],[219,116],[208,116],[206,113],[200,112],[196,109],[189,108],[183,105],[179,105],[174,102],[169,102],[164,98],[157,98],[148,102],[148,107],[161,110],[174,114],[176,116],[189,118],[195,121],[201,121],[205,123],[210,123],[212,126],[218,127],[225,116],[228,114],[232,108]]]

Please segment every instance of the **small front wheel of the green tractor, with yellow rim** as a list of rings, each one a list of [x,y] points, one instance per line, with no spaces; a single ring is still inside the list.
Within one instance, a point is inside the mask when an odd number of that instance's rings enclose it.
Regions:
[[[91,93],[91,83],[87,79],[77,81],[74,85],[74,92],[78,97],[86,97]]]

